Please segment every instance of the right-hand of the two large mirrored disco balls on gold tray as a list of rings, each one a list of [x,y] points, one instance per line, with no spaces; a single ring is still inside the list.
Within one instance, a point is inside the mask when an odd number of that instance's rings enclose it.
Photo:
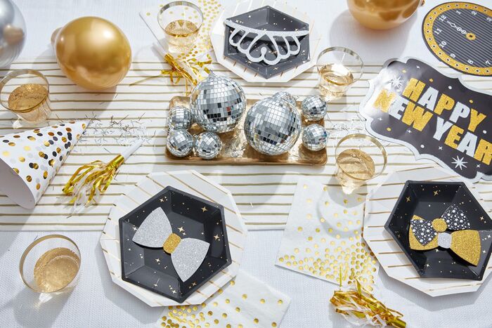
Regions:
[[[266,98],[247,112],[245,135],[247,142],[265,155],[288,152],[299,138],[301,115],[297,108],[279,98]]]

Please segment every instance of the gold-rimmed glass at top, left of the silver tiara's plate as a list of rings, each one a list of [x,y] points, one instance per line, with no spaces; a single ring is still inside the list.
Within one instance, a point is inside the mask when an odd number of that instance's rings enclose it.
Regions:
[[[162,6],[157,21],[166,34],[171,53],[185,53],[193,47],[203,23],[203,13],[188,1],[173,1]]]

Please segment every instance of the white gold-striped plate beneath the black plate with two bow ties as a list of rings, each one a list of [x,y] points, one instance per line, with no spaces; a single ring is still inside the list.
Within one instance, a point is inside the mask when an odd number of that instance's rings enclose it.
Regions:
[[[364,216],[364,239],[370,249],[374,252],[377,261],[380,262],[384,271],[403,284],[423,291],[430,296],[442,296],[449,294],[467,293],[477,291],[481,284],[487,280],[492,272],[492,257],[488,261],[484,278],[477,280],[447,279],[447,278],[421,278],[412,263],[393,237],[384,229],[384,224],[389,218],[401,190],[406,181],[462,181],[458,175],[444,171],[441,168],[427,166],[418,169],[408,169],[390,173],[386,180],[370,192],[365,203]],[[491,213],[488,206],[484,203],[474,185],[467,183],[468,189],[478,199],[481,206]]]

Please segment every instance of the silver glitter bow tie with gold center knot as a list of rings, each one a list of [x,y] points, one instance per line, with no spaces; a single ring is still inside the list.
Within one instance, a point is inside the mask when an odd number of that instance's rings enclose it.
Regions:
[[[200,268],[210,246],[208,242],[195,238],[181,239],[173,233],[169,218],[160,207],[145,218],[132,240],[145,247],[162,247],[171,254],[171,262],[183,282]]]

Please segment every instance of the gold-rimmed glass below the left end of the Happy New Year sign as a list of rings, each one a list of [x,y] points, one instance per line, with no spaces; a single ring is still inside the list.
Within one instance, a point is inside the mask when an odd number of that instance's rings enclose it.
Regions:
[[[335,148],[336,176],[346,194],[379,176],[386,167],[387,153],[371,136],[354,133],[340,139]]]

